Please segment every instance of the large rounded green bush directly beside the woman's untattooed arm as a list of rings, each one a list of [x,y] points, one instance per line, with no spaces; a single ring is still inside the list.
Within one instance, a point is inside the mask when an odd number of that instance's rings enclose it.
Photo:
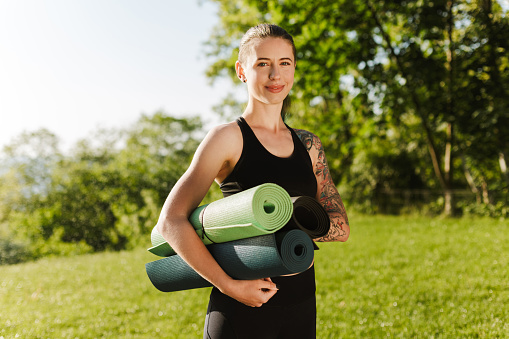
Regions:
[[[85,240],[96,251],[143,241],[140,236],[150,233],[166,195],[189,164],[200,129],[197,118],[157,112],[143,115],[112,140],[111,131],[104,131],[100,147],[82,143],[57,174],[53,200],[61,206],[52,224],[62,227],[62,240]]]

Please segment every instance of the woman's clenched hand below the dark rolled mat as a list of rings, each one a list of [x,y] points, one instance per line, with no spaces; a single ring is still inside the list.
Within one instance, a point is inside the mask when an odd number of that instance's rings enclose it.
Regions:
[[[219,290],[233,299],[251,307],[260,307],[269,301],[278,291],[276,284],[270,278],[257,280],[232,279],[224,288]]]

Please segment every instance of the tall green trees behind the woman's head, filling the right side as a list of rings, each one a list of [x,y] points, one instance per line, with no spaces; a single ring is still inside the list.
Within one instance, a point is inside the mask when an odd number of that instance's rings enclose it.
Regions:
[[[347,202],[401,186],[439,189],[452,214],[453,190],[509,185],[497,162],[509,146],[509,19],[497,2],[214,2],[212,78],[239,83],[233,65],[250,26],[273,22],[294,36],[290,122],[322,138]]]

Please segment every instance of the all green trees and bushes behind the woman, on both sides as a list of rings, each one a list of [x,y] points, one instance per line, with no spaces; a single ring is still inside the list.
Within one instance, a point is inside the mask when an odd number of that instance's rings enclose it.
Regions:
[[[215,2],[211,79],[239,83],[249,27],[270,21],[294,36],[288,123],[321,138],[349,209],[508,217],[509,19],[498,2]],[[215,109],[227,117],[243,104],[228,95]],[[0,155],[0,263],[138,246],[202,132],[197,118],[157,112],[68,154],[48,130],[21,134]],[[454,199],[465,190],[474,199]],[[424,192],[413,206],[386,208],[412,192]],[[220,197],[213,186],[204,202]]]

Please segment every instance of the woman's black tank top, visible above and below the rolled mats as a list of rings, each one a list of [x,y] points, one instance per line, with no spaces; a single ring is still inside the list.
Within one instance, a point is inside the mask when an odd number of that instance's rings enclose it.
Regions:
[[[311,158],[293,129],[286,126],[292,134],[293,153],[288,158],[280,158],[260,143],[243,117],[237,119],[237,124],[242,132],[242,154],[233,171],[220,185],[223,196],[270,182],[283,187],[292,197],[316,197],[317,183]],[[264,307],[289,306],[315,295],[314,265],[294,276],[271,279],[280,289]],[[213,289],[212,294],[219,298],[222,293]],[[221,297],[231,299],[225,295]]]

